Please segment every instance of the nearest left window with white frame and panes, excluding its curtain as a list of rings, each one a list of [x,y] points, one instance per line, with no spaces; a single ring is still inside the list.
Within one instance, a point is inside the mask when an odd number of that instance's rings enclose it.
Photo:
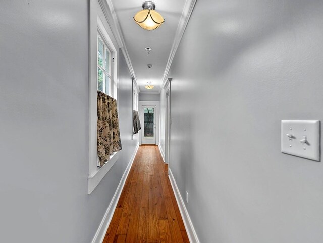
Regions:
[[[90,1],[90,66],[89,66],[89,169],[88,194],[100,183],[105,174],[118,160],[116,152],[104,166],[97,167],[97,90],[117,99],[118,43],[112,34],[104,14]],[[96,12],[98,11],[98,12]],[[100,16],[102,18],[100,18]],[[109,34],[110,33],[110,34]]]

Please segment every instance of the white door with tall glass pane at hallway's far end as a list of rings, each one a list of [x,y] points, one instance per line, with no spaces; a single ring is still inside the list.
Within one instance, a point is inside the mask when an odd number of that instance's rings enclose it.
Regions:
[[[156,144],[156,106],[142,106],[142,142]]]

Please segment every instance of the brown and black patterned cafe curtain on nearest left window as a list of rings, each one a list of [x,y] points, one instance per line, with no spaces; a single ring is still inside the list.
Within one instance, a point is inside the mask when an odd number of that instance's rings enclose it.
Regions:
[[[109,161],[113,152],[121,149],[117,100],[97,91],[97,154],[100,166]]]

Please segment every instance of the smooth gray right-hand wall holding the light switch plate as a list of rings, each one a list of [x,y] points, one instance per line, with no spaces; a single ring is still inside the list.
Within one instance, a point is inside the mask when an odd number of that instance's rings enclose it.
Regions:
[[[280,152],[323,120],[323,2],[197,1],[172,71],[171,164],[203,243],[323,242],[323,164]]]

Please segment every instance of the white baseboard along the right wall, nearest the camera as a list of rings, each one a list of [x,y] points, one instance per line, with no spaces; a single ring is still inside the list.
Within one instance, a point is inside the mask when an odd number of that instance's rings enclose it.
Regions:
[[[188,236],[188,238],[190,240],[190,243],[199,243],[200,241],[197,238],[197,234],[195,232],[194,226],[193,226],[192,221],[190,219],[190,216],[189,216],[189,214],[187,212],[187,209],[186,209],[184,201],[183,201],[183,199],[181,197],[180,191],[178,190],[178,187],[177,187],[177,184],[176,184],[176,181],[174,179],[174,176],[173,176],[173,173],[172,173],[171,169],[169,169],[168,174],[169,174],[169,177],[170,177],[171,185],[172,185],[172,188],[173,188],[173,191],[174,191],[174,194],[175,194],[175,198],[176,198],[177,204],[179,206],[179,209],[180,209],[180,212],[181,212],[181,215],[182,215],[182,219],[183,219],[185,229],[186,229],[186,232],[187,232],[187,236]]]

